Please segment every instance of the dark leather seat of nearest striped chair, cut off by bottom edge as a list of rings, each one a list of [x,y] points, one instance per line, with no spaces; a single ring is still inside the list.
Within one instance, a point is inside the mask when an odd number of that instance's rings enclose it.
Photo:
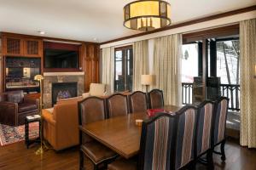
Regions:
[[[108,170],[136,170],[137,163],[134,160],[125,160],[121,158],[108,164]]]

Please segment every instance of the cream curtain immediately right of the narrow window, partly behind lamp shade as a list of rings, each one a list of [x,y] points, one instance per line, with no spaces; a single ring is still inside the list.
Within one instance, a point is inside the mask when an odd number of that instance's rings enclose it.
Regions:
[[[133,55],[133,91],[146,91],[141,84],[143,74],[148,74],[148,40],[134,42]]]

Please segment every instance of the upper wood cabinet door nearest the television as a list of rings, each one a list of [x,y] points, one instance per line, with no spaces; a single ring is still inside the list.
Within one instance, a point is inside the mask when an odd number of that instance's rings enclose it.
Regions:
[[[24,39],[24,56],[41,57],[43,54],[43,42],[38,39]]]

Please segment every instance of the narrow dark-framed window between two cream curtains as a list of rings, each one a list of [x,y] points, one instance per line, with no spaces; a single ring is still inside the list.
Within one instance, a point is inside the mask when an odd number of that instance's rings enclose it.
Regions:
[[[114,91],[132,91],[133,51],[132,46],[115,48]]]

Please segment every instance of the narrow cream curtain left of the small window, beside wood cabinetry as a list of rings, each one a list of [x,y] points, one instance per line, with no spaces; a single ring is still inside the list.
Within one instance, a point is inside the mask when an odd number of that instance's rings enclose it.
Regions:
[[[102,83],[106,84],[107,94],[113,94],[114,48],[102,48]]]

